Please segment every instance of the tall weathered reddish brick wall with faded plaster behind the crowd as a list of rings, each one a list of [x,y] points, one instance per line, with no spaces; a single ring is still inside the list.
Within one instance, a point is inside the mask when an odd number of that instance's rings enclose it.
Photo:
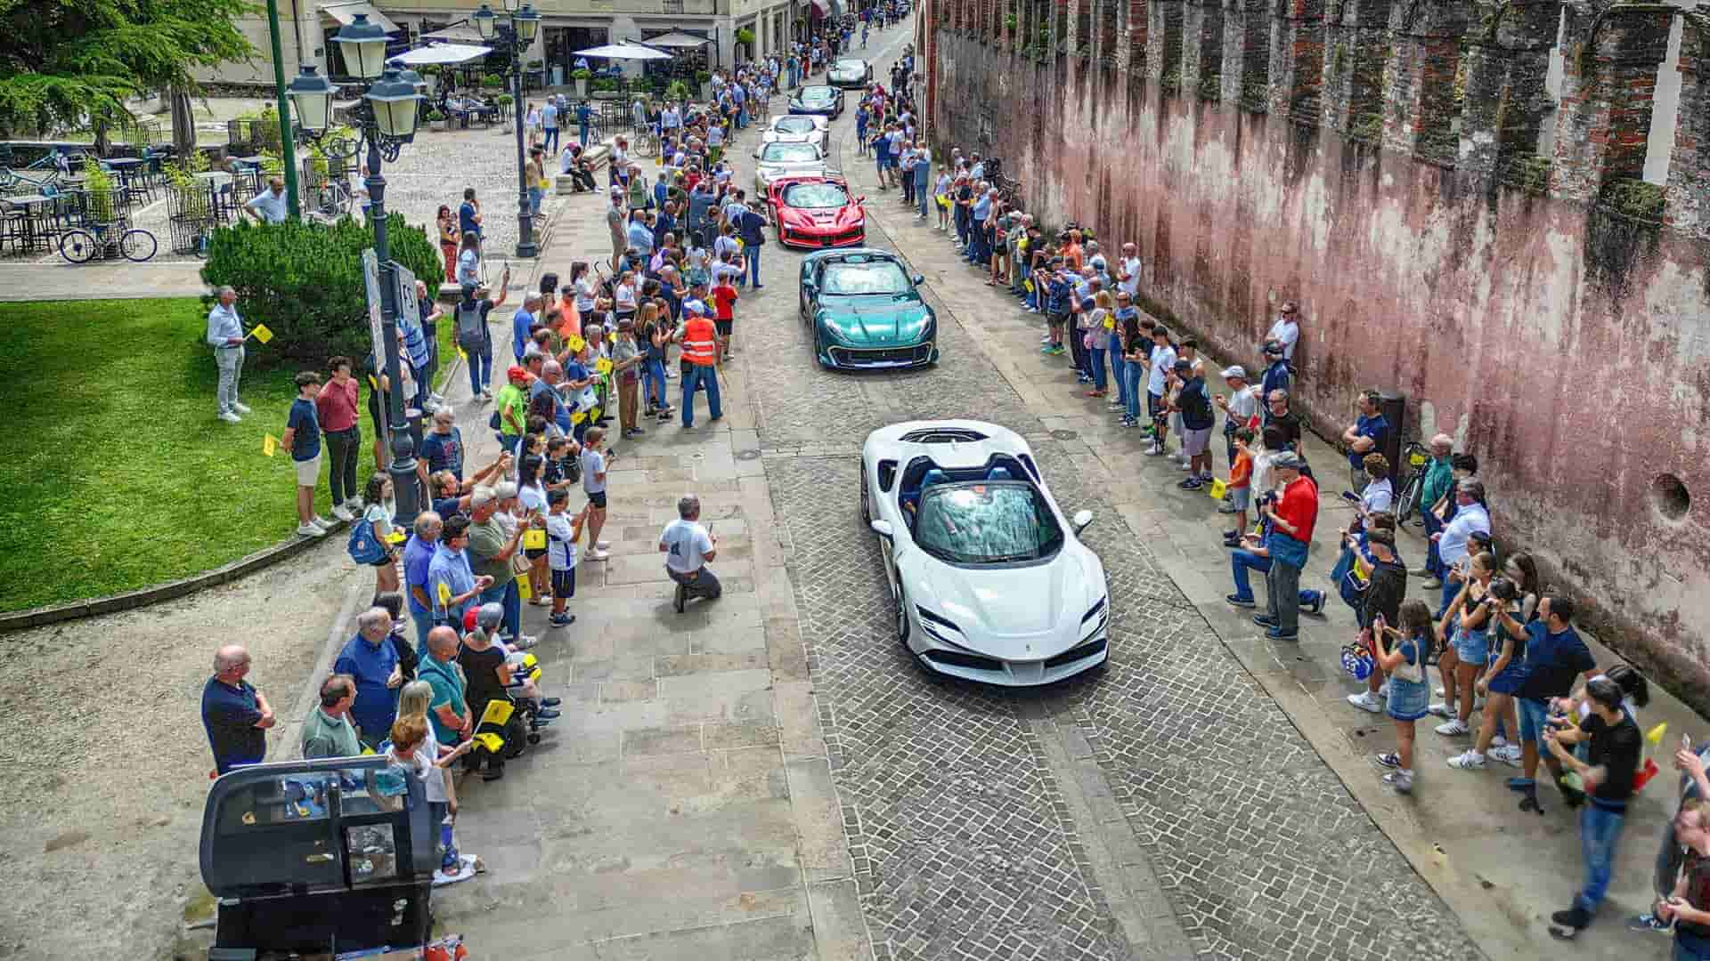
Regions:
[[[1300,301],[1320,433],[1358,390],[1404,393],[1411,436],[1486,465],[1498,539],[1710,710],[1703,22],[1664,193],[1635,181],[1633,145],[1642,166],[1667,7],[1568,5],[1556,154],[1537,157],[1554,0],[1495,24],[1457,0],[1074,2],[1094,22],[1113,3],[1096,32],[1123,50],[1077,56],[1028,0],[1024,44],[932,17],[939,145],[1000,156],[1047,224],[1137,241],[1144,294],[1219,357],[1255,364],[1276,304]],[[1005,121],[982,130],[994,104]]]

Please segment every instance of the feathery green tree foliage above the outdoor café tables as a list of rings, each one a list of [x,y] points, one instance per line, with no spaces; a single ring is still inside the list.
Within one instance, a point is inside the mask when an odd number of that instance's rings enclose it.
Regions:
[[[245,0],[0,0],[0,132],[128,118],[128,97],[181,87],[193,70],[248,60]]]

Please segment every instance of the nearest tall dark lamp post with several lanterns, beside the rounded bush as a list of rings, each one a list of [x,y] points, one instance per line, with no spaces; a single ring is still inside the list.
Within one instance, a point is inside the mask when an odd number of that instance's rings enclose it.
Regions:
[[[416,120],[422,99],[416,84],[398,70],[386,67],[386,32],[378,24],[369,24],[366,14],[356,14],[354,21],[333,38],[344,51],[345,67],[366,84],[361,103],[352,113],[357,135],[351,139],[333,139],[321,142],[327,135],[332,113],[333,85],[315,72],[315,67],[303,67],[303,72],[291,82],[287,92],[298,109],[298,127],[303,133],[321,144],[328,157],[351,159],[368,147],[368,214],[374,226],[374,255],[380,260],[380,313],[381,337],[386,366],[386,427],[392,434],[392,491],[397,498],[397,523],[409,527],[416,523],[421,510],[421,489],[416,477],[416,439],[412,422],[421,417],[421,410],[404,409],[404,378],[400,376],[398,357],[398,284],[392,265],[392,250],[386,245],[386,178],[380,173],[381,161],[397,161],[404,144],[416,139]],[[414,294],[414,291],[410,291]],[[416,427],[419,429],[419,427]]]

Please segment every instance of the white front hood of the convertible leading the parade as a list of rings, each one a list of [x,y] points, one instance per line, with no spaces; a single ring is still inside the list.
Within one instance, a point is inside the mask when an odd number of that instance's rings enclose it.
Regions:
[[[1004,660],[1043,660],[1077,643],[1094,621],[1081,617],[1105,597],[1105,569],[1076,542],[1043,564],[958,568],[922,552],[910,602],[961,628],[946,633],[970,650]]]

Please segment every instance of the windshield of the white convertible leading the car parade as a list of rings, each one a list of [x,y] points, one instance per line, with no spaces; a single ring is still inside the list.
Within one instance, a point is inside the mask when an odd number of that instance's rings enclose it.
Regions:
[[[1031,484],[973,480],[922,492],[915,542],[951,564],[1012,564],[1050,557],[1064,532]]]

